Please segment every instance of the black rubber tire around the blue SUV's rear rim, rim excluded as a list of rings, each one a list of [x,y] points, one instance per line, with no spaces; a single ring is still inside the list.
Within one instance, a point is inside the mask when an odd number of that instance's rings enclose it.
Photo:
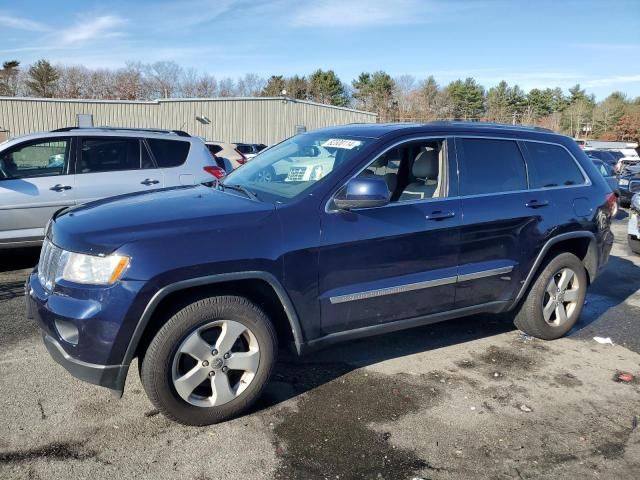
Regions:
[[[550,325],[544,319],[543,303],[547,285],[558,272],[568,268],[577,276],[578,294],[576,305],[567,321],[559,325]],[[561,253],[549,259],[542,267],[538,277],[529,289],[527,297],[520,304],[514,323],[524,333],[542,340],[554,340],[565,335],[580,317],[587,294],[587,273],[578,257],[571,253]]]

